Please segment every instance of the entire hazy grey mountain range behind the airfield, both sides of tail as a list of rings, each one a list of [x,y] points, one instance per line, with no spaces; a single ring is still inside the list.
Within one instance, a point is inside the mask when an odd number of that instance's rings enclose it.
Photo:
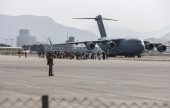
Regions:
[[[109,38],[141,38],[158,41],[170,41],[170,26],[152,32],[138,32],[129,28],[106,27]],[[5,43],[6,39],[16,39],[19,29],[29,29],[32,36],[36,36],[38,41],[46,42],[50,37],[53,43],[63,43],[67,39],[67,33],[75,36],[76,40],[87,41],[96,40],[99,37],[97,25],[86,30],[67,27],[55,22],[48,16],[8,16],[0,15],[0,43]]]

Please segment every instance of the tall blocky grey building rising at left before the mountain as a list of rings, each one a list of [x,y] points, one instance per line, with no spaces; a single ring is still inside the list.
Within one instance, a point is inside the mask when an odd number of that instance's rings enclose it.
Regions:
[[[20,29],[19,36],[17,36],[17,47],[33,44],[36,44],[36,37],[31,36],[28,29]]]

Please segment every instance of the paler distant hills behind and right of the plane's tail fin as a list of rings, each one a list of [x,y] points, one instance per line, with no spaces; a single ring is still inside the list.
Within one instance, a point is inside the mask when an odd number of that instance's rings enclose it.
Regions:
[[[160,30],[152,31],[152,32],[138,32],[129,28],[121,28],[121,27],[113,27],[113,26],[105,26],[107,36],[110,38],[161,38],[163,35],[170,32],[170,26],[166,26]],[[87,30],[94,32],[99,35],[99,30],[97,25],[87,28]],[[170,38],[168,38],[170,40]]]

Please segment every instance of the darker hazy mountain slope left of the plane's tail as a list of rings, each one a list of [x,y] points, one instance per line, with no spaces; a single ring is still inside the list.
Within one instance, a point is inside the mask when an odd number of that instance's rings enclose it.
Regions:
[[[37,37],[38,41],[47,41],[50,37],[53,43],[66,41],[67,33],[76,37],[76,40],[95,40],[98,37],[89,31],[80,30],[56,23],[47,16],[7,16],[0,15],[0,43],[5,39],[16,39],[19,29],[30,29],[30,34]],[[8,42],[9,43],[9,42]]]

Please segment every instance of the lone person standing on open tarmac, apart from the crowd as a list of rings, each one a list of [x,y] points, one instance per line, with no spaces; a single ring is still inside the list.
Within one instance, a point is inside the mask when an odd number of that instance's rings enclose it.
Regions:
[[[53,74],[53,55],[51,52],[47,54],[47,65],[49,65],[49,76],[54,76]]]

